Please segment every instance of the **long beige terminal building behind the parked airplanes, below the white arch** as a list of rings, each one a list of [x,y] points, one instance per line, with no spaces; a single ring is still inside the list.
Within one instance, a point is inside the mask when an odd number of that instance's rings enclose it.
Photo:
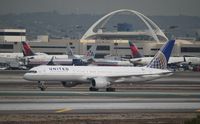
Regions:
[[[145,56],[154,56],[164,42],[135,40],[134,43]],[[96,58],[105,55],[131,56],[128,40],[70,40],[48,39],[48,41],[29,41],[35,52],[47,54],[66,54],[66,47],[70,45],[75,54],[85,54],[91,45],[97,44]],[[0,52],[21,52],[21,41],[0,41]],[[200,41],[176,40],[172,56],[200,57]]]

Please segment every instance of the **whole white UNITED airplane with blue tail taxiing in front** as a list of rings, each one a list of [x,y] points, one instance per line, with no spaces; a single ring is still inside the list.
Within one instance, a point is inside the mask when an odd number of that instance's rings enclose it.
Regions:
[[[105,88],[106,91],[115,91],[111,86],[117,83],[134,83],[150,81],[173,73],[167,70],[175,40],[168,41],[156,53],[151,62],[144,67],[127,66],[48,66],[40,65],[30,69],[23,78],[29,81],[38,81],[38,87],[44,91],[44,82],[59,81],[65,87],[78,84],[90,84],[90,91]]]

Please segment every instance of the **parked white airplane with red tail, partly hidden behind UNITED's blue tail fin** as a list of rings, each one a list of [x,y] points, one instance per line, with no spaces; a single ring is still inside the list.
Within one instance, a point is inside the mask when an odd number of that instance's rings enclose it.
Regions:
[[[133,56],[133,58],[130,59],[130,62],[134,65],[147,65],[153,59],[153,57],[144,57],[133,42],[129,41],[129,46]],[[184,61],[183,57],[170,57],[168,64],[178,64]]]

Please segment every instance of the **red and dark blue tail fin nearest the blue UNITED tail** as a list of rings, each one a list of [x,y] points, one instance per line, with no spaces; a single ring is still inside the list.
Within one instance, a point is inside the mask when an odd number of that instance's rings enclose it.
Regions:
[[[133,42],[128,41],[128,43],[129,43],[133,58],[141,58],[141,57],[143,57],[143,55],[139,52],[137,46]]]

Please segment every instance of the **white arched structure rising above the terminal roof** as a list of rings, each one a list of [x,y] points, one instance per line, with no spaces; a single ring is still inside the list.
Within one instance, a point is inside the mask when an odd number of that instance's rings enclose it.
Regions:
[[[92,36],[95,35],[102,35],[104,34],[104,32],[102,31],[97,31],[94,32],[94,29],[100,24],[102,23],[102,25],[100,26],[101,28],[104,27],[104,25],[107,23],[107,21],[115,14],[117,13],[122,13],[122,12],[130,12],[135,14],[136,16],[138,16],[144,23],[145,25],[148,27],[148,31],[145,32],[123,32],[123,35],[126,35],[126,33],[128,35],[131,35],[130,33],[132,33],[132,35],[147,35],[147,36],[151,36],[154,38],[154,40],[156,40],[157,42],[159,42],[159,38],[158,36],[163,37],[165,40],[168,40],[168,38],[165,36],[165,34],[162,32],[162,30],[152,21],[150,20],[148,17],[144,16],[143,14],[134,11],[134,10],[129,10],[129,9],[121,9],[121,10],[116,10],[113,11],[111,13],[108,13],[107,15],[103,16],[102,18],[100,18],[97,22],[95,22],[88,30],[87,32],[83,35],[83,37],[81,39],[85,40],[85,39],[90,39]],[[110,33],[112,35],[112,33]],[[107,34],[109,35],[109,33]],[[117,32],[116,35],[120,35],[119,32]]]

